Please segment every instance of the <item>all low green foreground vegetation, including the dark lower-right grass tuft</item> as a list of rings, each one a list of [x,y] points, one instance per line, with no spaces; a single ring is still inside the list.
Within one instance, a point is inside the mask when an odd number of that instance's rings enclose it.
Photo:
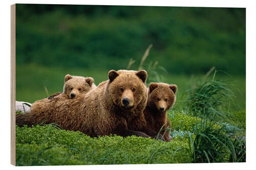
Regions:
[[[61,130],[56,125],[32,128],[16,126],[16,164],[22,166],[208,162],[206,157],[199,156],[203,150],[217,153],[210,162],[245,161],[245,141],[228,138],[221,125],[215,124],[212,129],[202,124],[202,119],[179,112],[170,111],[168,116],[172,124],[170,134],[173,135],[170,142],[135,136],[123,138],[116,135],[91,138],[78,131]],[[245,124],[245,119],[241,119],[241,124]],[[214,143],[209,145],[208,142],[204,142],[208,139],[202,134],[210,136]],[[231,140],[236,148],[237,158],[234,160],[231,157],[232,150],[220,146],[219,140],[211,135],[217,136],[222,142],[229,141],[229,147],[232,145]],[[197,145],[195,148],[200,149],[197,150],[196,159],[191,150],[193,145],[190,140],[197,141],[194,147]]]

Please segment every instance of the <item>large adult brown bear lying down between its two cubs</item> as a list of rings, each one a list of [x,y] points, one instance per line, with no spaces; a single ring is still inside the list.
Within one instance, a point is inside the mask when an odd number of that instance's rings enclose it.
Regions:
[[[146,127],[143,110],[147,90],[145,70],[111,70],[109,80],[86,94],[68,100],[65,93],[47,100],[28,114],[16,114],[16,125],[56,123],[63,129],[80,131],[91,137],[155,137]]]

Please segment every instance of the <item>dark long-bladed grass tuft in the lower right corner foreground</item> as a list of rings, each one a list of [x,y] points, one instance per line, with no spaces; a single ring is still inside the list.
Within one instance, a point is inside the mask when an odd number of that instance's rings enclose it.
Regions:
[[[215,123],[207,119],[201,120],[192,137],[188,134],[193,162],[237,162],[237,150],[232,138],[228,137],[223,128],[214,128]]]

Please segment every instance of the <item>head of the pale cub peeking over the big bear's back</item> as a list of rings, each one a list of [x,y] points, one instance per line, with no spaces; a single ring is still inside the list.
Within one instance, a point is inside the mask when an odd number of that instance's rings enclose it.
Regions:
[[[68,94],[70,99],[75,98],[79,94],[85,94],[95,87],[93,78],[84,78],[81,76],[65,76],[65,84],[63,93]]]

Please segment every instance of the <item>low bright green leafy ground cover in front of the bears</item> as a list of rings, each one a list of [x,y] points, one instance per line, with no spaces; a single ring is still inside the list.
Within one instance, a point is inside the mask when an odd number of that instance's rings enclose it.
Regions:
[[[189,163],[188,143],[142,137],[90,138],[52,126],[16,127],[17,165]]]

